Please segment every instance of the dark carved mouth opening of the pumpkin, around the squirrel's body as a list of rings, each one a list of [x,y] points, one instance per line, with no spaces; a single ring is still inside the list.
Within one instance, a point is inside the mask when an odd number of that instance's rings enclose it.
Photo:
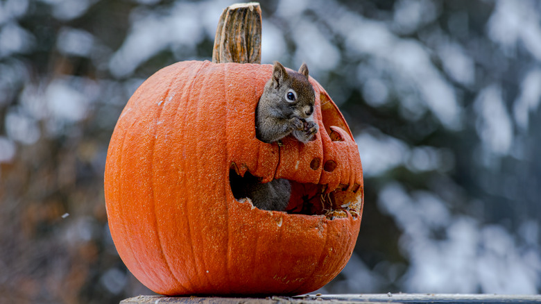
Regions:
[[[288,181],[291,185],[289,202],[284,210],[278,211],[325,216],[327,219],[347,217],[347,214],[357,218],[361,214],[362,189],[358,184],[351,187],[341,184],[336,189],[328,189],[327,185]],[[230,170],[230,187],[237,201],[252,204],[252,199],[246,196],[246,189],[254,183],[261,183],[261,178],[253,176],[248,171],[244,176],[240,176],[237,171]]]

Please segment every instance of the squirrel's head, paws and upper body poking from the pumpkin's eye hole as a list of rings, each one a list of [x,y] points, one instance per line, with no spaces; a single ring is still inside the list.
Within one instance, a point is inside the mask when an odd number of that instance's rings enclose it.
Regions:
[[[318,132],[318,124],[314,121],[315,103],[314,87],[308,80],[306,63],[298,72],[288,72],[275,61],[273,76],[267,81],[257,103],[256,137],[271,143],[293,134],[299,142],[309,142]]]

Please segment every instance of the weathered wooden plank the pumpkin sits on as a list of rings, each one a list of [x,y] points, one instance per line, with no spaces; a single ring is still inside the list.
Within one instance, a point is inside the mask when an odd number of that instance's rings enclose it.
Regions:
[[[359,304],[359,303],[541,303],[540,295],[498,294],[329,294],[307,296],[272,296],[266,298],[223,298],[197,296],[137,296],[121,304]]]

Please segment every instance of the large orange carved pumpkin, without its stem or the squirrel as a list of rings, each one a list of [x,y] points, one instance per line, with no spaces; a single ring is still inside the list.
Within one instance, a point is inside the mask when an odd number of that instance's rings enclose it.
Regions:
[[[257,140],[271,73],[178,62],[148,78],[119,117],[105,168],[109,226],[123,262],[154,292],[303,294],[349,260],[363,205],[357,144],[314,79],[316,140]],[[234,199],[229,176],[246,171],[291,180],[289,212]]]

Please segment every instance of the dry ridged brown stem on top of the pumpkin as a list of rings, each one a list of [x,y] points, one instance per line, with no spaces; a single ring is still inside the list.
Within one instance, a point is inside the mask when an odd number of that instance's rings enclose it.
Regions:
[[[261,64],[259,3],[235,3],[223,10],[214,37],[212,62]]]

